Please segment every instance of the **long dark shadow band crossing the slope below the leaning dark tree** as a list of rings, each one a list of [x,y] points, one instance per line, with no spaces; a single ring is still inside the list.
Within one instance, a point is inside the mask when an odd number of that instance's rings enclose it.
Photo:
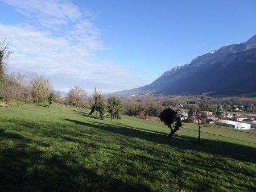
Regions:
[[[239,161],[249,161],[253,163],[256,162],[256,148],[243,145],[209,139],[201,139],[201,145],[198,145],[196,143],[196,138],[191,136],[175,135],[174,137],[169,137],[167,135],[164,135],[162,132],[147,132],[144,130],[139,130],[137,128],[115,126],[114,124],[110,126],[98,122],[87,123],[72,119],[64,120],[79,124],[81,126],[94,127],[102,131],[118,133],[119,135],[136,137],[138,139],[143,139],[159,144],[172,145],[179,149],[189,149],[209,153],[212,155],[221,155],[224,157],[231,157]]]

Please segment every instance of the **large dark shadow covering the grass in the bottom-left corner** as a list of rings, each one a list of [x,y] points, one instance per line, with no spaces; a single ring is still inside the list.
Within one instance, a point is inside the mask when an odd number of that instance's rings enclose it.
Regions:
[[[0,148],[1,191],[152,191],[141,183],[124,183],[85,168],[72,153],[40,151],[33,141],[0,130],[1,140],[15,146]],[[83,156],[89,156],[86,153]]]

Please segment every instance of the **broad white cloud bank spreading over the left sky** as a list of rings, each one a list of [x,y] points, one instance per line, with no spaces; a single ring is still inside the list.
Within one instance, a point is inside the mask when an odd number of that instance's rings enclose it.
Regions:
[[[64,91],[75,85],[89,90],[97,86],[103,92],[143,85],[130,69],[92,62],[95,53],[106,48],[89,12],[67,1],[4,2],[32,20],[15,26],[0,23],[0,37],[7,37],[13,51],[9,72],[43,74],[55,89]],[[34,19],[40,26],[33,25]]]

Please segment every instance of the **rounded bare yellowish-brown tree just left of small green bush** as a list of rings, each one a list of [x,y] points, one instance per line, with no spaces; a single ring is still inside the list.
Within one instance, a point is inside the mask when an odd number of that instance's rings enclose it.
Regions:
[[[37,74],[30,75],[30,90],[34,102],[38,103],[40,100],[45,100],[52,92],[52,85],[49,80]]]

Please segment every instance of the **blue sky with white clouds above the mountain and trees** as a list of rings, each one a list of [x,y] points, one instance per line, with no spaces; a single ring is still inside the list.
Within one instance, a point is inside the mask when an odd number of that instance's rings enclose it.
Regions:
[[[256,1],[0,0],[7,72],[55,90],[92,93],[150,84],[167,70],[256,35]]]

